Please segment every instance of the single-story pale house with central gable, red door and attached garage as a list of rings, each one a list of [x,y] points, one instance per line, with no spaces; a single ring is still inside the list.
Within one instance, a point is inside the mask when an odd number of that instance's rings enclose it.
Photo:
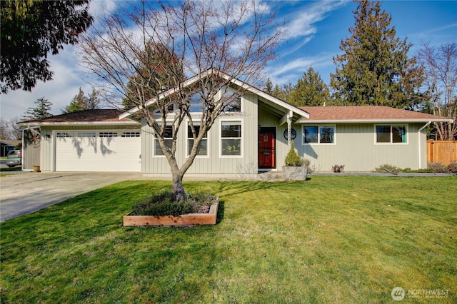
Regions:
[[[191,86],[195,81],[196,77],[190,78],[184,84]],[[345,171],[372,171],[383,163],[426,168],[426,126],[451,121],[386,106],[297,108],[248,83],[236,79],[231,83],[244,88],[244,93],[238,105],[214,123],[186,176],[245,179],[256,178],[260,171],[281,171],[289,134],[298,155],[308,158],[318,171],[331,171],[335,164],[345,165]],[[154,103],[154,99],[149,102],[151,111]],[[146,123],[135,121],[135,113],[136,109],[126,113],[86,110],[21,125],[39,128],[41,171],[171,176],[153,131]],[[187,124],[183,122],[176,143],[178,163],[189,155]]]

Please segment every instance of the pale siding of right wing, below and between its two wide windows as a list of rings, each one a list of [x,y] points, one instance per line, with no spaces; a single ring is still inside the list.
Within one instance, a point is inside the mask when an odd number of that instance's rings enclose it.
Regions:
[[[404,123],[394,123],[404,124]],[[335,144],[303,144],[303,128],[296,126],[296,148],[317,171],[331,171],[344,165],[345,171],[373,171],[388,163],[400,168],[419,168],[418,129],[423,124],[408,123],[408,143],[376,144],[375,123],[336,124]],[[298,131],[299,130],[299,131]],[[426,135],[421,131],[421,168],[426,168]]]

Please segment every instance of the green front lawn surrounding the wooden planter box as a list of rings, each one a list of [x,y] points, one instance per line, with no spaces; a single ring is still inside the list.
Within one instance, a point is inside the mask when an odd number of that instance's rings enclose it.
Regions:
[[[457,301],[455,177],[186,182],[219,195],[216,226],[122,226],[170,186],[117,183],[1,223],[1,303],[393,303],[396,286]]]

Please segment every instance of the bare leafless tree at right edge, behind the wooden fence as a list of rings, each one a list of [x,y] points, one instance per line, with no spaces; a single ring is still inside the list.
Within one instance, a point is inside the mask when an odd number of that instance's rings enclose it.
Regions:
[[[457,43],[422,44],[417,58],[424,67],[433,114],[454,119],[453,123],[435,123],[436,139],[453,140],[457,134]]]

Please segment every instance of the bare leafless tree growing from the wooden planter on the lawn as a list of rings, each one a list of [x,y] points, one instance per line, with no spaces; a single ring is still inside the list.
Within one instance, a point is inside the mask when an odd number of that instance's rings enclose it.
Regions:
[[[229,84],[233,79],[258,84],[263,67],[275,57],[282,27],[274,16],[256,0],[144,1],[122,15],[105,16],[81,39],[82,64],[104,81],[106,101],[128,98],[137,118],[154,130],[171,166],[177,198],[184,196],[182,179],[202,138],[243,90],[229,90]],[[151,46],[162,56],[149,51]],[[183,81],[193,75],[193,81]],[[191,115],[195,103],[198,116]],[[185,118],[194,141],[189,158],[179,164],[176,139]],[[167,126],[173,126],[171,145]]]

